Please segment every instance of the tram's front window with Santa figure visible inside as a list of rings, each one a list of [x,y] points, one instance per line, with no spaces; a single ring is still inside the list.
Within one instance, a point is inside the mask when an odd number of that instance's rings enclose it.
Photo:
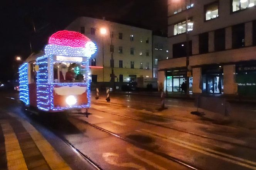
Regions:
[[[81,63],[54,63],[54,83],[86,82],[85,66]]]

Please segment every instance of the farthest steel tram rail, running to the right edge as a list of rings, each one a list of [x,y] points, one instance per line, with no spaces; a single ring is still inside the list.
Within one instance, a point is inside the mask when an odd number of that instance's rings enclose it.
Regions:
[[[231,144],[231,145],[236,145],[236,146],[238,146],[238,147],[244,147],[244,148],[249,148],[249,149],[256,150],[256,147],[251,147],[251,146],[246,146],[246,145],[242,145],[242,144],[239,144],[239,143],[229,142],[229,141],[226,141],[226,140],[216,139],[216,138],[209,137],[209,136],[206,136],[206,135],[200,135],[200,134],[197,134],[197,133],[188,132],[188,131],[185,131],[185,130],[180,130],[180,129],[173,128],[173,127],[167,127],[167,126],[160,125],[160,124],[157,124],[157,123],[147,122],[147,121],[144,121],[144,120],[132,118],[132,117],[125,116],[125,115],[119,115],[119,114],[117,114],[117,113],[111,113],[111,112],[99,110],[99,109],[96,109],[96,108],[91,108],[91,109],[98,110],[98,111],[104,112],[104,113],[109,113],[109,114],[111,114],[111,115],[116,115],[116,116],[120,116],[120,117],[129,118],[129,119],[131,119],[131,120],[136,120],[136,121],[138,121],[138,122],[143,122],[143,123],[155,125],[155,126],[158,126],[158,127],[162,127],[162,128],[167,128],[167,129],[175,130],[175,131],[178,131],[178,132],[183,132],[183,133],[187,133],[187,134],[190,134],[190,135],[195,135],[195,136],[202,137],[202,138],[207,138],[207,139],[211,139],[211,140],[216,140],[216,141],[218,141],[218,142],[223,142],[223,143],[228,143],[228,144]],[[145,114],[147,114],[147,113],[145,113]],[[157,117],[157,115],[152,115],[152,116]],[[164,118],[164,117],[162,117],[162,118]],[[170,119],[172,119],[172,118],[170,118]]]

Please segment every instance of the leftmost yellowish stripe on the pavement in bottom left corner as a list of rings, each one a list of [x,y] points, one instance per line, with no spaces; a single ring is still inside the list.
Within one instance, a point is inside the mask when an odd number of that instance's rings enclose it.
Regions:
[[[5,138],[5,152],[8,170],[27,170],[24,156],[22,154],[19,141],[12,126],[9,123],[1,124],[3,136]]]

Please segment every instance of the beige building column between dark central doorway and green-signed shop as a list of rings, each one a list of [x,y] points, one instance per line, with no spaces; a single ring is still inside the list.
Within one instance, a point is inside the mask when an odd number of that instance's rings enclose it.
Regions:
[[[224,94],[236,94],[236,65],[224,65],[223,66],[223,91]]]

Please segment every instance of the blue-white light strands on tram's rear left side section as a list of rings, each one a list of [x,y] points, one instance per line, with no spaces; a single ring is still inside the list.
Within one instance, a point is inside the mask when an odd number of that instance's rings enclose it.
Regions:
[[[29,80],[28,80],[28,63],[24,63],[19,67],[19,83],[20,83],[20,100],[29,105]]]

